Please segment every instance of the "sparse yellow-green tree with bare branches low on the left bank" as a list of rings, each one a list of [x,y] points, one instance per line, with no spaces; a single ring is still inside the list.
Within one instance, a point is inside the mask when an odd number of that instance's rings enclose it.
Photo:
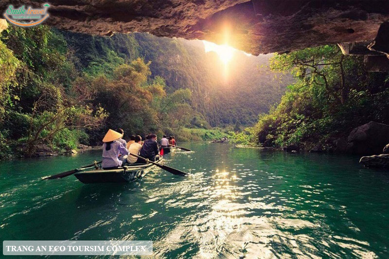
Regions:
[[[49,86],[52,91],[42,91],[31,114],[27,154],[32,155],[38,143],[51,142],[62,130],[95,129],[103,125],[107,114],[103,108],[90,105],[96,92],[82,83],[76,80],[69,94],[61,93],[54,86]],[[59,99],[53,98],[53,94],[60,96]],[[51,103],[53,100],[57,102]],[[46,107],[50,106],[55,108],[48,110]]]

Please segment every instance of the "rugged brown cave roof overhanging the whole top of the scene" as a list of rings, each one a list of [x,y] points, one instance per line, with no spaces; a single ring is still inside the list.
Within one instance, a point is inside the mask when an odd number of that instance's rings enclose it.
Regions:
[[[40,7],[46,0],[14,0]],[[45,24],[88,34],[148,32],[228,43],[257,55],[372,41],[389,20],[387,0],[51,0]],[[1,1],[6,10],[9,1]],[[227,34],[226,34],[227,32]],[[226,36],[226,37],[225,37]],[[381,51],[381,49],[380,49]]]

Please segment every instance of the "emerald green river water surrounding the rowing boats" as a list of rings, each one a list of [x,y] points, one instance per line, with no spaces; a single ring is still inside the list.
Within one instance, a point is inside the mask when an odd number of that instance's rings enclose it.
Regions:
[[[151,240],[156,258],[388,258],[389,172],[356,156],[185,143],[129,184],[74,176],[99,151],[0,163],[0,239]]]

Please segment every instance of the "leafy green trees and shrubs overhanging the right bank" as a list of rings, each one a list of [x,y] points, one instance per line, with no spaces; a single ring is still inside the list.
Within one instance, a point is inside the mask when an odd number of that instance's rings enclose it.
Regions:
[[[326,150],[331,138],[345,138],[354,127],[389,123],[388,73],[366,72],[359,57],[322,46],[275,55],[270,66],[298,81],[277,107],[259,116],[254,134],[260,144]]]

